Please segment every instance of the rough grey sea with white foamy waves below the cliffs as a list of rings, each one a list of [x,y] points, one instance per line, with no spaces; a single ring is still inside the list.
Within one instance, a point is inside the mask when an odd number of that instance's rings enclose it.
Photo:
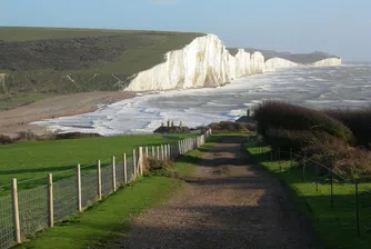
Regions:
[[[235,120],[267,100],[313,109],[359,109],[371,106],[371,64],[302,67],[249,76],[219,88],[138,94],[94,112],[42,120],[60,132],[103,136],[151,133],[167,120],[198,127]]]

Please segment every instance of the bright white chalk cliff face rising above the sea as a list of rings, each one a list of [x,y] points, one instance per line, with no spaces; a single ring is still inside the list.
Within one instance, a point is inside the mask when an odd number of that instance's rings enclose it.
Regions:
[[[330,66],[332,62],[338,64],[338,60],[331,58],[317,63],[318,66]],[[234,78],[297,66],[299,64],[281,58],[264,61],[261,52],[249,53],[244,49],[240,49],[233,57],[217,36],[207,34],[195,38],[181,50],[168,52],[163,63],[133,76],[124,90],[218,87]]]

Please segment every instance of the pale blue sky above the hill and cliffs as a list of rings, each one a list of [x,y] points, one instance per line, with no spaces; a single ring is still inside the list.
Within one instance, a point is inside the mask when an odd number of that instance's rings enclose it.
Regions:
[[[0,26],[207,32],[227,47],[371,61],[371,0],[0,0]]]

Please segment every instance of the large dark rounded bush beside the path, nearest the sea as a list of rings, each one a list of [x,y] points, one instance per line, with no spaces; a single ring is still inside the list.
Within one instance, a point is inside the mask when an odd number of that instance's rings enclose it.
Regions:
[[[258,132],[265,137],[269,129],[291,131],[323,131],[345,142],[353,136],[348,127],[321,111],[289,103],[267,101],[254,111]]]

